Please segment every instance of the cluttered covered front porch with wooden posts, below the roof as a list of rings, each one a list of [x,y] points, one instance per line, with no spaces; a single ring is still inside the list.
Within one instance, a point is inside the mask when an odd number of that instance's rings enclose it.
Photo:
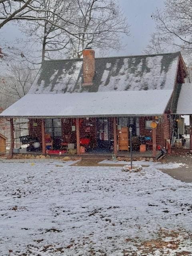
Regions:
[[[130,157],[130,132],[135,158],[158,158],[160,144],[158,128],[149,123],[157,117],[118,116],[84,118],[29,118],[28,136],[20,148],[15,147],[14,122],[10,119],[12,134],[11,154],[75,155],[83,157]],[[25,136],[23,136],[25,137]],[[157,137],[157,141],[156,141]]]

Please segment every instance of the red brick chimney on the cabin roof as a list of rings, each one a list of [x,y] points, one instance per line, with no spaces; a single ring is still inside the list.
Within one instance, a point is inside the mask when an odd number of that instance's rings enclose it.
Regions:
[[[95,51],[92,48],[83,50],[83,86],[93,84],[95,74]]]

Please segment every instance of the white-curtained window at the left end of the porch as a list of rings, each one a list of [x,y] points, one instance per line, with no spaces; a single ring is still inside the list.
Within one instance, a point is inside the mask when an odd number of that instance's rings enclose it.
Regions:
[[[45,120],[45,132],[46,134],[50,134],[53,137],[61,137],[62,136],[62,127],[61,127],[61,119],[46,119]]]

